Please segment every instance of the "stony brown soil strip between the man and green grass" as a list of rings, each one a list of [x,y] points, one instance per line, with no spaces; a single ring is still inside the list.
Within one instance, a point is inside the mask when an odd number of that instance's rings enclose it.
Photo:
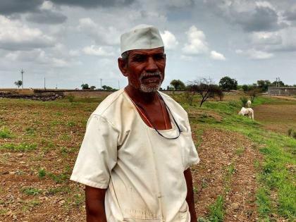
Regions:
[[[197,216],[209,214],[218,195],[226,199],[225,221],[258,221],[254,144],[238,133],[206,129],[198,149],[201,162],[192,168]]]

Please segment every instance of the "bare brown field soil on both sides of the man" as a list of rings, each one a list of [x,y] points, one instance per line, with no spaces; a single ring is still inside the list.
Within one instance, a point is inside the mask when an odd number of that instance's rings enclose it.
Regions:
[[[0,99],[0,130],[6,127],[13,133],[12,138],[0,138],[0,146],[37,144],[36,150],[26,152],[0,149],[0,221],[85,221],[83,186],[68,178],[96,106]],[[199,128],[192,125],[193,132]],[[204,129],[202,139],[193,137],[202,143],[201,162],[192,168],[197,215],[206,217],[209,204],[222,195],[225,221],[257,221],[254,162],[261,156],[254,144],[240,134],[214,128]],[[25,192],[27,188],[35,192]]]

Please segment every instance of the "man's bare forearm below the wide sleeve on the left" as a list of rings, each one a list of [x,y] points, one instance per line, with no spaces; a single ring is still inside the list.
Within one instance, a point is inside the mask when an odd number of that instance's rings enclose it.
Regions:
[[[106,222],[105,214],[106,189],[85,186],[85,208],[87,222]]]

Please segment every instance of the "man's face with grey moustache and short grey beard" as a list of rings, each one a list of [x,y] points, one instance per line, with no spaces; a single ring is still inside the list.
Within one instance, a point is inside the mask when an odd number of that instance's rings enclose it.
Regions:
[[[137,49],[128,53],[128,84],[142,92],[156,92],[164,81],[164,48]]]

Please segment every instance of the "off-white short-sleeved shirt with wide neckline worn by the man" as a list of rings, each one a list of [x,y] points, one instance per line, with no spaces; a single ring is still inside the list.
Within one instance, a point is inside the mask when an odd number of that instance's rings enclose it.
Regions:
[[[180,129],[168,140],[149,128],[124,90],[109,95],[87,121],[87,129],[70,180],[106,189],[109,222],[185,222],[184,171],[199,162],[187,113],[161,94]],[[178,136],[172,116],[166,137]]]

